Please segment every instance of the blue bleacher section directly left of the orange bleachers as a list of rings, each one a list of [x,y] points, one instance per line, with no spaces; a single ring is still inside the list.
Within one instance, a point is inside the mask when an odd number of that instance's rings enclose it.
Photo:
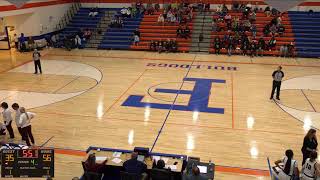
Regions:
[[[120,16],[120,11],[117,14]],[[130,49],[133,43],[133,32],[139,28],[143,15],[123,19],[122,28],[108,28],[99,49]]]

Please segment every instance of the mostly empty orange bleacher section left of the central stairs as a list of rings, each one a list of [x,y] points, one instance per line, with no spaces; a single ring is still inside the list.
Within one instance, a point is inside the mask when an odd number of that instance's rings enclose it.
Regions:
[[[178,44],[178,51],[188,52],[190,48],[191,38],[177,38],[176,31],[179,27],[178,23],[165,23],[165,25],[158,24],[158,17],[163,13],[162,11],[155,12],[154,15],[145,15],[139,30],[141,32],[140,43],[138,46],[131,45],[131,49],[135,50],[149,50],[151,40],[160,41],[167,39],[175,39]],[[192,34],[192,22],[188,23],[190,33]]]

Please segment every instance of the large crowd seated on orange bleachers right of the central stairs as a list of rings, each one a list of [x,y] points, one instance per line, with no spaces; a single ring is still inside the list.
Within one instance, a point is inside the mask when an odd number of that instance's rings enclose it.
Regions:
[[[226,5],[218,6],[216,18],[212,22],[213,32],[224,32],[224,37],[215,36],[213,48],[216,54],[220,54],[221,49],[226,49],[228,55],[233,52],[242,55],[262,56],[264,51],[276,50],[277,36],[283,36],[285,27],[282,24],[282,16],[276,9],[266,7],[267,16],[272,16],[272,20],[263,28],[263,35],[257,37],[256,13],[262,11],[257,6],[251,4],[234,3],[232,10],[242,13],[241,17],[232,17]],[[265,41],[265,37],[271,37]],[[289,48],[290,47],[290,48]],[[279,49],[284,57],[294,56],[294,44],[283,45]]]

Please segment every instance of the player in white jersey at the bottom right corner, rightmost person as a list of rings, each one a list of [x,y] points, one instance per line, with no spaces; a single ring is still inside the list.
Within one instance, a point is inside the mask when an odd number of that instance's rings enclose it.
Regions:
[[[310,157],[306,160],[302,167],[301,179],[302,180],[315,180],[320,175],[320,164],[317,162],[318,153],[312,151]]]

